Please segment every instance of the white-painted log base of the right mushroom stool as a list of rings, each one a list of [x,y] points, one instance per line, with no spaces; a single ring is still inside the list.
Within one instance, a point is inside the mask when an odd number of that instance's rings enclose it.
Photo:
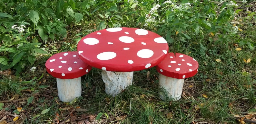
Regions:
[[[159,97],[164,101],[179,100],[182,94],[183,79],[159,74]]]

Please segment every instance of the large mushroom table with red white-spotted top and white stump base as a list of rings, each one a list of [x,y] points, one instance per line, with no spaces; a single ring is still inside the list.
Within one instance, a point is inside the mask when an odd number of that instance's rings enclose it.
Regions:
[[[83,37],[77,44],[79,57],[102,69],[105,92],[115,96],[132,84],[133,71],[159,64],[168,52],[160,35],[137,28],[108,28]]]

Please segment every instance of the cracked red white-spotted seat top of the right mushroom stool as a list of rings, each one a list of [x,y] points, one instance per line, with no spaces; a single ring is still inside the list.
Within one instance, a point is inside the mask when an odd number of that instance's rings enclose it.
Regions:
[[[156,66],[156,70],[167,77],[183,79],[197,73],[198,62],[185,54],[168,53],[166,58]]]

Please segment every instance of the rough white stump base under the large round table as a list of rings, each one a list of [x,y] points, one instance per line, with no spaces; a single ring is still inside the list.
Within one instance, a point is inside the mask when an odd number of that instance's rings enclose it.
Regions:
[[[121,93],[127,86],[132,85],[133,72],[112,72],[102,70],[103,82],[107,94],[116,96]]]

